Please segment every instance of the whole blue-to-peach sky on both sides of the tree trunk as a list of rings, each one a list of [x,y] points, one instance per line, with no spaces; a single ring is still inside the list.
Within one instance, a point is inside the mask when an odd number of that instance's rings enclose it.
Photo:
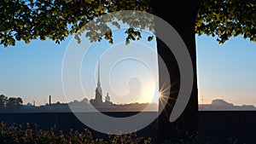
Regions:
[[[121,33],[114,35],[118,44],[94,43],[84,54],[79,69],[84,95],[94,98],[97,62],[100,60],[103,96],[108,92],[115,103],[157,102],[154,96],[145,98],[146,95],[156,95],[154,89],[158,89],[157,72],[152,71],[157,66],[155,41],[149,43],[143,39],[131,43],[129,49],[125,47],[125,36]],[[256,106],[256,43],[235,37],[218,44],[214,37],[195,37],[199,103],[224,99],[235,105]],[[66,50],[75,46],[72,37],[67,37],[61,44],[34,40],[29,44],[17,42],[15,47],[3,48],[1,45],[0,94],[20,96],[24,104],[36,101],[36,105],[48,102],[49,95],[52,95],[53,102],[83,99],[84,95],[75,94],[75,88],[71,88],[74,89],[73,97],[65,97],[62,88],[61,72]],[[125,51],[126,48],[131,51]],[[137,53],[136,48],[142,51]],[[122,55],[117,55],[118,50],[123,51]],[[145,53],[148,54],[145,56]],[[148,89],[151,89],[149,93]],[[127,95],[130,96],[127,98]],[[142,98],[134,95],[141,95]]]

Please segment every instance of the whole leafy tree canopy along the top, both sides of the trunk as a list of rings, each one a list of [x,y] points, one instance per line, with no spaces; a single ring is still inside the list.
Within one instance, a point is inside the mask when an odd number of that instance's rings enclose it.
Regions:
[[[202,0],[195,22],[195,33],[218,36],[218,43],[238,35],[256,42],[255,7],[255,0]],[[152,13],[148,0],[3,0],[0,2],[0,44],[7,47],[15,45],[16,41],[30,43],[38,38],[49,38],[60,43],[73,34],[80,42],[79,35],[84,31],[91,42],[101,41],[103,37],[113,43],[108,25],[96,22],[94,28],[83,30],[82,27],[102,14],[119,10]],[[154,31],[154,26],[148,21],[144,21],[143,26],[134,24],[133,20],[123,21],[131,26],[125,31],[126,43],[141,38],[137,29],[149,28]],[[118,17],[109,18],[105,22],[119,28]],[[148,37],[148,40],[152,38]]]

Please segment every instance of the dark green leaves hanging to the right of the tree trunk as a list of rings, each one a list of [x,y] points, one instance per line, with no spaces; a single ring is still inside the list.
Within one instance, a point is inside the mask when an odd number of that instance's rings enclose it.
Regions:
[[[203,0],[197,14],[195,32],[217,36],[218,43],[243,35],[256,42],[255,0]]]

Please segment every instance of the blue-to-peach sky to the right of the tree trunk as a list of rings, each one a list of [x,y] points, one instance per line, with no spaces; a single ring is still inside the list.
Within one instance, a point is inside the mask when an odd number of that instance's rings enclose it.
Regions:
[[[196,37],[199,99],[224,99],[256,106],[256,43],[232,37],[218,44],[213,37]]]

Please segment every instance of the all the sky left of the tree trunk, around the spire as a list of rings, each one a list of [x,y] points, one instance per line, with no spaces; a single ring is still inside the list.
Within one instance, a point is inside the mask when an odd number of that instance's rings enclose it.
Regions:
[[[72,95],[64,93],[62,65],[67,49],[84,49],[85,40],[78,44],[68,37],[61,44],[50,40],[17,42],[16,46],[0,48],[0,94],[21,97],[24,104],[36,101],[36,105],[52,102],[95,98],[97,62],[101,60],[102,97],[109,93],[114,103],[158,103],[158,73],[155,42],[147,41],[143,32],[141,41],[125,46],[124,30],[113,32],[115,44],[107,41],[92,43],[82,59],[80,81],[84,94],[78,87],[71,88]],[[88,45],[88,44],[87,44]],[[74,55],[76,57],[77,55]],[[73,69],[71,69],[73,72]],[[109,72],[108,72],[109,71]],[[154,71],[154,72],[152,72]],[[149,90],[148,90],[149,89]]]

